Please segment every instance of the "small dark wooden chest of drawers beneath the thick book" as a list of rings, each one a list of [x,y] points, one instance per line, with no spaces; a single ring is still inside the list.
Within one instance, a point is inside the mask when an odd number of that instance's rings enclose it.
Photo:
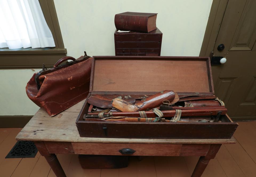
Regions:
[[[115,30],[115,55],[160,56],[162,35],[158,28],[149,33]]]

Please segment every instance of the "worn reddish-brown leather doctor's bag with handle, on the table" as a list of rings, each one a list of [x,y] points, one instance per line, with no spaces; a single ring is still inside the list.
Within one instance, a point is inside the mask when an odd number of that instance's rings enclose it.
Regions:
[[[73,60],[64,65],[63,61]],[[63,57],[53,68],[35,73],[26,86],[27,96],[52,117],[85,99],[91,76],[90,56]]]

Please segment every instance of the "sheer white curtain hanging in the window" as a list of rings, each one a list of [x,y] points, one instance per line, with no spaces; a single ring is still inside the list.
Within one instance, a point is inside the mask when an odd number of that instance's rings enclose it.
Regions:
[[[0,0],[0,48],[55,47],[38,0]]]

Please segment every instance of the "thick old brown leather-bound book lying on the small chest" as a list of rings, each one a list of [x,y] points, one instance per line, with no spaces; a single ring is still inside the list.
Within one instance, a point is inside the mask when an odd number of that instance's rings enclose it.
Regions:
[[[124,12],[115,15],[115,27],[117,30],[150,32],[157,29],[157,14]]]

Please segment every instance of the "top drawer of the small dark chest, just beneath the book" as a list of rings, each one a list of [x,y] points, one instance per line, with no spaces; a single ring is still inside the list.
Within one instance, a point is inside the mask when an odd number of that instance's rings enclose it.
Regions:
[[[149,36],[149,35],[137,35],[137,36],[129,36],[129,35],[120,35],[120,36],[116,36],[116,41],[119,42],[138,42],[138,41],[152,41],[152,42],[160,42],[161,41],[161,37],[159,36]]]

